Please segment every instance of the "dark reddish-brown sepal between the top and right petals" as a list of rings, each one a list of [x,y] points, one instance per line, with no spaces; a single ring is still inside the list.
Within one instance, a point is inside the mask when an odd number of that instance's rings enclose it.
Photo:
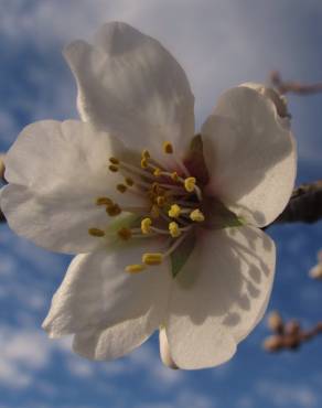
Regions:
[[[196,176],[198,185],[206,185],[208,183],[210,173],[204,158],[204,148],[201,135],[193,137],[183,162],[190,170],[191,174]]]

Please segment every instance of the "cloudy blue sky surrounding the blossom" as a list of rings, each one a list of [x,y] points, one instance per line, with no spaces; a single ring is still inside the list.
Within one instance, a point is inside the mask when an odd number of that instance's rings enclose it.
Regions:
[[[64,44],[121,20],[158,37],[187,72],[200,126],[219,93],[272,68],[286,78],[322,79],[320,0],[0,0],[0,147],[39,119],[77,117]],[[321,178],[322,96],[291,96],[300,182]],[[278,246],[269,309],[310,326],[321,319],[322,283],[308,270],[322,247],[321,223],[269,230]],[[75,356],[69,341],[41,330],[69,259],[0,226],[0,408],[320,407],[321,339],[299,353],[267,355],[265,323],[228,364],[172,372],[157,339],[114,363]]]

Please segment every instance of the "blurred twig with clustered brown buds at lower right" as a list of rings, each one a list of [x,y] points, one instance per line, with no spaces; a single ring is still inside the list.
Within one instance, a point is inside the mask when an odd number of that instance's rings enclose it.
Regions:
[[[322,322],[316,323],[310,330],[302,330],[297,320],[285,323],[278,312],[270,313],[268,326],[273,335],[264,341],[264,348],[271,353],[282,350],[298,350],[303,343],[322,334]]]

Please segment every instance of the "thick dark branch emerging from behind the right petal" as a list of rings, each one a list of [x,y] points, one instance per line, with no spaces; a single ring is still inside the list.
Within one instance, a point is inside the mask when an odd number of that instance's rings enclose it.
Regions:
[[[297,187],[289,204],[272,224],[315,223],[322,219],[322,180]]]

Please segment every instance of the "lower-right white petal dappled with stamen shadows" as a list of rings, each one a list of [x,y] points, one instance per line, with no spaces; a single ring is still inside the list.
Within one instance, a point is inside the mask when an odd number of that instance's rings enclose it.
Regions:
[[[165,324],[180,368],[229,359],[258,323],[275,270],[273,241],[253,227],[204,234],[172,289]]]

